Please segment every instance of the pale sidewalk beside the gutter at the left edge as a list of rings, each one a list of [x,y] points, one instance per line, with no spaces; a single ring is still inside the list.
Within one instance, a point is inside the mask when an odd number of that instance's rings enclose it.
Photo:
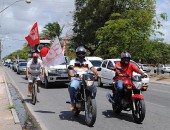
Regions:
[[[22,130],[21,125],[14,122],[3,73],[0,66],[0,130]]]

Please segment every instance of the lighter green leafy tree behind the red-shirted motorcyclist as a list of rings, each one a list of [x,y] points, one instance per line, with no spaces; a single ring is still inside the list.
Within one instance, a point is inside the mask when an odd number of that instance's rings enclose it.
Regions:
[[[104,48],[102,52],[105,52],[105,57],[108,52],[117,57],[121,51],[127,50],[132,55],[138,52],[137,56],[141,57],[143,44],[154,31],[155,1],[129,0],[119,4],[118,7],[124,8],[113,12],[105,26],[96,32],[97,38],[102,41],[99,53]]]

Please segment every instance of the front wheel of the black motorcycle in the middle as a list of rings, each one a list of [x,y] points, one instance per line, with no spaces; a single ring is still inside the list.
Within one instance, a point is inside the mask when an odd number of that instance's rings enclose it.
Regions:
[[[97,107],[96,107],[96,100],[92,97],[87,98],[87,109],[85,110],[85,121],[87,126],[93,126],[96,121],[97,116]]]

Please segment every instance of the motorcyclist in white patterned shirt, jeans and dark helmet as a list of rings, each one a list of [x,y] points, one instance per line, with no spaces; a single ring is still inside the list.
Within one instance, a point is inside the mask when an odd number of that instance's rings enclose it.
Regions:
[[[86,49],[83,46],[79,46],[76,49],[76,59],[70,61],[70,65],[68,67],[68,74],[71,77],[71,82],[69,86],[69,94],[70,94],[70,110],[73,111],[75,109],[75,94],[76,90],[80,87],[80,77],[76,75],[83,74],[91,70],[95,75],[100,76],[97,72],[96,68],[93,67],[92,63],[85,58]],[[97,90],[97,89],[96,89]]]

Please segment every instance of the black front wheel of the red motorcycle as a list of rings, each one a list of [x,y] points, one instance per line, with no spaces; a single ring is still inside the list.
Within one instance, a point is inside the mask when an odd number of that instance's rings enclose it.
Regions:
[[[141,123],[145,118],[145,102],[144,100],[135,99],[135,109],[132,108],[133,119],[136,123]]]

